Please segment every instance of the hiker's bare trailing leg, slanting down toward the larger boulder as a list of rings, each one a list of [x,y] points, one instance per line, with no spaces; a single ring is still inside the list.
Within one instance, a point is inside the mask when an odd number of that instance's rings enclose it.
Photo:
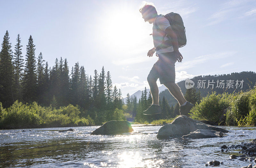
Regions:
[[[171,92],[172,96],[178,100],[180,105],[182,105],[186,102],[183,94],[180,91],[180,87],[175,82],[167,82],[164,84],[164,86],[166,86],[168,88],[168,90]]]

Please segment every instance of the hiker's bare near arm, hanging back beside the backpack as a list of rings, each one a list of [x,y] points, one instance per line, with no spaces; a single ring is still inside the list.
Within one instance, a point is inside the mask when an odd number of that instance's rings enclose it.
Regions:
[[[181,53],[179,52],[179,43],[178,43],[178,39],[177,39],[177,35],[175,34],[175,32],[172,30],[172,27],[169,26],[168,28],[165,29],[165,33],[171,37],[171,41],[172,41],[172,46],[173,46],[173,51],[175,53],[175,56],[178,60],[178,62],[181,62],[181,60],[183,59]]]

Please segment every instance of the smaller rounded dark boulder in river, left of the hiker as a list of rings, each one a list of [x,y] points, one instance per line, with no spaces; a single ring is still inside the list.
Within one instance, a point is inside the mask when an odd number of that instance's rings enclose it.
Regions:
[[[132,125],[128,121],[113,120],[101,125],[91,135],[118,135],[132,131]]]

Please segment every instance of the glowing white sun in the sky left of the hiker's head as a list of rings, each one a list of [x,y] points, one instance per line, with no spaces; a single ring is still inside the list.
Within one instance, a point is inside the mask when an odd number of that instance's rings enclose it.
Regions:
[[[104,42],[119,50],[136,46],[141,34],[141,24],[145,24],[139,10],[115,8],[110,10],[102,22]]]

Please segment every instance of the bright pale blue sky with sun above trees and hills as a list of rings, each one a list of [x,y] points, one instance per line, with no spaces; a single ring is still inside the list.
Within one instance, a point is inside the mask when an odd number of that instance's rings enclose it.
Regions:
[[[0,0],[0,38],[8,30],[14,49],[18,34],[25,56],[29,35],[52,67],[57,57],[78,61],[93,75],[104,66],[123,96],[142,90],[157,57],[152,24],[141,18],[141,0]],[[255,0],[153,0],[159,14],[179,13],[186,27],[184,60],[176,82],[197,75],[256,71]],[[160,83],[158,82],[159,86]]]

